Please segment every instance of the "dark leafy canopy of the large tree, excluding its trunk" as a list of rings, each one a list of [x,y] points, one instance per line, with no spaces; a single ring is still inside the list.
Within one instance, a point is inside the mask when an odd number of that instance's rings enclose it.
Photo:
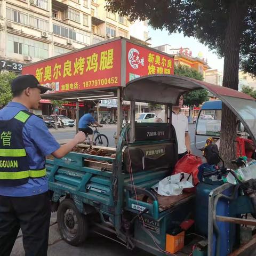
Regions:
[[[153,28],[169,33],[183,32],[225,57],[225,37],[232,4],[238,5],[242,22],[240,38],[242,67],[256,75],[256,1],[255,0],[107,0],[106,9],[129,17],[148,20]],[[237,17],[238,19],[238,17]]]

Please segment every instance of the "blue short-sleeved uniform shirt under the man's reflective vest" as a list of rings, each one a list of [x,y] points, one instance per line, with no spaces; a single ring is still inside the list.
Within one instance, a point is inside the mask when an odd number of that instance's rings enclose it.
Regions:
[[[28,109],[18,102],[9,102],[0,110],[0,120],[9,120],[21,110]],[[44,158],[59,149],[59,143],[47,129],[43,119],[32,115],[23,127],[23,142],[29,159],[29,168],[43,169]],[[34,196],[48,190],[47,178],[29,179],[27,183],[15,187],[1,187],[2,196]]]

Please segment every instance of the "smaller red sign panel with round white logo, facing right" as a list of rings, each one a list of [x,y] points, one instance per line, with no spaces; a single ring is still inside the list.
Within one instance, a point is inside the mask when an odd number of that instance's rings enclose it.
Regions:
[[[174,73],[174,59],[126,42],[126,83],[140,76]]]

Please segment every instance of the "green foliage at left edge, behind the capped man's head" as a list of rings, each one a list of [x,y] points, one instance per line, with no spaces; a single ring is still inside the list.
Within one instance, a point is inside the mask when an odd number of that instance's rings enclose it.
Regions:
[[[5,106],[12,100],[11,82],[17,77],[13,72],[0,73],[0,106]]]

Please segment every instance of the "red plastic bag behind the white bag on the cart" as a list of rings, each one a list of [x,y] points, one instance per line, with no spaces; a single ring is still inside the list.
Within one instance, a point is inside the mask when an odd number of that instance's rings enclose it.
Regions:
[[[199,156],[187,154],[179,159],[179,161],[175,164],[174,171],[172,174],[178,174],[181,172],[192,173],[194,186],[199,183],[197,178],[198,174],[198,166],[201,165],[202,159]],[[184,189],[186,192],[194,192],[195,188],[187,188]]]

